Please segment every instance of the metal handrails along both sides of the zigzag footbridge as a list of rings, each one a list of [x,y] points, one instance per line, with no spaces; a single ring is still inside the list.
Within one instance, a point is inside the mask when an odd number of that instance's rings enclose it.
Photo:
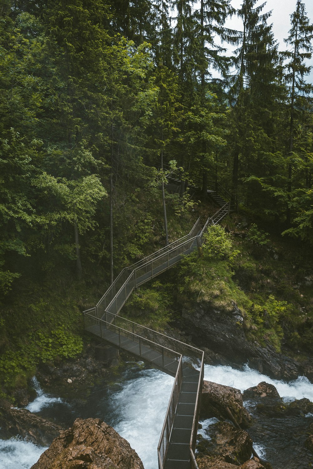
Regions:
[[[203,242],[203,234],[205,229],[208,227],[209,224],[216,224],[220,219],[218,219],[216,222],[214,221],[218,215],[224,211],[225,207],[229,205],[229,203],[226,203],[221,209],[219,209],[213,217],[209,217],[207,221],[205,222],[203,228],[199,232],[198,230],[198,225],[200,224],[200,218],[196,221],[194,224],[194,227],[191,229],[189,234],[186,236],[183,236],[179,240],[176,240],[169,244],[168,246],[165,246],[164,248],[161,248],[160,250],[156,251],[155,253],[151,254],[150,256],[145,257],[141,261],[138,261],[137,263],[124,268],[118,275],[118,277],[114,280],[112,285],[106,290],[105,294],[102,296],[102,298],[99,300],[97,303],[96,307],[90,308],[89,310],[86,310],[83,312],[84,314],[84,322],[85,318],[93,318],[97,324],[100,324],[100,333],[102,337],[102,329],[101,329],[101,324],[107,324],[109,326],[112,326],[112,322],[114,321],[114,331],[118,330],[119,331],[119,347],[121,346],[120,342],[120,332],[124,332],[127,334],[131,334],[133,340],[136,337],[139,340],[139,348],[140,348],[140,356],[141,356],[141,341],[144,340],[144,342],[148,342],[150,344],[150,348],[152,350],[157,350],[158,348],[162,348],[162,350],[166,350],[170,354],[174,354],[176,357],[176,360],[178,361],[178,367],[175,375],[175,380],[174,380],[174,385],[172,387],[171,391],[171,399],[166,411],[165,419],[164,419],[164,425],[163,429],[161,432],[159,444],[157,447],[157,452],[158,452],[158,461],[159,461],[159,469],[163,469],[163,461],[164,458],[166,457],[166,452],[168,449],[168,444],[170,440],[170,434],[171,434],[171,427],[173,424],[173,415],[175,414],[176,411],[176,405],[177,402],[175,403],[175,399],[177,396],[176,392],[176,386],[178,383],[178,389],[180,392],[180,387],[181,387],[181,381],[182,378],[180,379],[179,376],[181,373],[182,374],[182,364],[187,363],[191,366],[193,366],[194,369],[199,371],[199,380],[198,380],[198,386],[197,386],[197,397],[196,397],[196,402],[195,402],[195,407],[194,407],[194,417],[193,417],[193,424],[192,424],[192,432],[191,432],[191,439],[190,439],[190,464],[192,466],[192,469],[198,469],[195,456],[194,456],[194,451],[195,451],[195,442],[196,442],[196,436],[197,436],[197,428],[196,428],[196,422],[199,417],[199,410],[200,410],[200,393],[201,393],[201,388],[202,388],[202,383],[203,383],[203,368],[204,368],[204,352],[198,348],[195,348],[191,345],[188,345],[184,342],[181,342],[180,340],[173,339],[166,334],[159,333],[157,331],[154,331],[153,329],[149,329],[149,327],[139,325],[134,323],[133,321],[130,321],[129,319],[126,318],[119,318],[120,321],[123,321],[123,324],[125,325],[131,325],[131,331],[128,329],[124,329],[123,327],[117,326],[116,325],[116,317],[118,316],[119,311],[121,310],[122,306],[126,303],[127,298],[129,295],[133,292],[134,288],[138,286],[137,284],[137,271],[140,271],[146,267],[146,275],[148,273],[148,266],[151,267],[151,276],[149,275],[143,282],[140,282],[140,285],[144,283],[147,280],[150,280],[150,278],[153,278],[153,275],[158,275],[161,272],[164,272],[164,270],[167,270],[170,268],[172,265],[176,264],[179,262],[180,257],[184,253],[184,247],[185,245],[188,245],[188,248],[186,251],[191,250],[193,247],[194,241],[197,241],[197,245],[201,245]],[[226,213],[224,213],[225,215]],[[194,231],[196,231],[196,235],[194,235]],[[193,235],[193,236],[192,236]],[[192,237],[191,237],[192,236]],[[177,244],[179,243],[179,244]],[[180,253],[180,250],[182,250],[182,253]],[[176,251],[176,254],[172,257],[171,254],[173,254]],[[156,263],[159,259],[161,259],[164,255],[166,256],[167,254],[167,266],[165,267],[164,270],[158,270],[154,272],[153,268],[153,263]],[[169,260],[175,259],[175,257],[179,257],[177,261],[169,265]],[[166,265],[166,261],[162,263],[161,265],[158,265],[155,267],[157,269],[158,267],[162,265]],[[129,269],[132,269],[132,272],[127,275],[127,271],[129,272]],[[150,271],[150,269],[149,269]],[[138,277],[139,279],[140,277]],[[116,289],[120,282],[124,282],[119,286],[119,290],[116,292]],[[127,291],[127,287],[128,291]],[[113,294],[114,293],[114,294]],[[123,296],[124,295],[124,296]],[[109,304],[106,304],[106,297],[112,298]],[[118,307],[118,297],[123,296],[121,300],[121,305]],[[104,314],[102,315],[102,318],[98,317],[98,309],[102,306],[102,303],[104,302]],[[113,314],[109,309],[112,307],[112,305],[115,302],[115,310],[116,312]],[[90,314],[90,312],[94,312],[94,315]],[[111,315],[111,321],[107,321],[107,315]],[[105,319],[103,319],[105,317]],[[136,326],[136,330],[139,330],[140,333],[147,333],[147,334],[153,334],[153,340],[148,339],[147,337],[143,337],[142,335],[139,335],[138,333],[134,332],[134,328]],[[85,326],[86,328],[86,326]],[[157,341],[157,340],[158,341]],[[176,351],[172,350],[171,348],[165,347],[162,343],[162,341],[170,341],[176,348]],[[156,348],[157,347],[157,348]],[[185,359],[185,362],[184,362]],[[189,362],[189,363],[188,363]],[[163,367],[164,367],[164,362],[163,362]],[[175,394],[176,392],[176,394]],[[172,414],[171,411],[173,410]],[[161,455],[161,447],[162,447],[162,455]]]

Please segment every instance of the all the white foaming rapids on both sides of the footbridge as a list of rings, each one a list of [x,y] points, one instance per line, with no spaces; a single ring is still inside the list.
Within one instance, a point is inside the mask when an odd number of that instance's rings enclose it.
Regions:
[[[130,368],[132,365],[130,364]],[[97,409],[97,416],[111,424],[119,434],[129,441],[130,445],[142,459],[145,469],[157,469],[157,445],[162,431],[165,412],[173,385],[173,378],[154,369],[133,367],[131,373],[127,371],[126,378],[113,391],[103,398],[102,407]],[[285,383],[273,380],[266,375],[251,370],[246,366],[243,370],[234,370],[230,366],[205,365],[204,379],[216,383],[232,386],[244,391],[248,387],[256,386],[261,381],[276,386],[278,393],[286,401],[306,397],[313,401],[313,385],[305,377]],[[69,403],[58,397],[45,394],[39,384],[34,381],[37,398],[27,408],[32,412],[41,412],[53,406],[69,407]],[[111,388],[110,388],[111,389]],[[92,405],[92,401],[89,403]],[[110,408],[111,421],[105,413]],[[79,409],[77,413],[86,418],[87,410]],[[214,423],[214,419],[202,422],[203,428]],[[259,454],[262,445],[255,448]],[[45,448],[19,439],[0,440],[0,468],[1,469],[29,469]]]

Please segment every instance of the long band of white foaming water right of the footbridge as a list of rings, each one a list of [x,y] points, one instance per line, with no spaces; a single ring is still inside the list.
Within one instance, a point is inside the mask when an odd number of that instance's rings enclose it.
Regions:
[[[247,365],[243,370],[234,370],[231,366],[204,365],[204,379],[224,386],[235,387],[241,392],[265,381],[274,385],[279,395],[286,401],[294,401],[303,397],[313,401],[313,384],[305,376],[299,376],[298,379],[285,382],[262,375],[258,371],[251,370]]]

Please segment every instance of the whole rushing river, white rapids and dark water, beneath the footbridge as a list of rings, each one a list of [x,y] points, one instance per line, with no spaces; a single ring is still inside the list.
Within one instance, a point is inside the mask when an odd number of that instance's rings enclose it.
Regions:
[[[303,397],[313,401],[313,385],[304,377],[284,383],[272,380],[248,367],[239,371],[227,366],[206,365],[204,378],[236,387],[241,391],[266,381],[276,386],[278,393],[286,401]],[[86,400],[67,402],[58,396],[47,395],[35,379],[37,398],[27,408],[45,418],[53,419],[64,427],[69,427],[78,416],[99,417],[129,441],[142,459],[145,469],[157,469],[157,444],[172,384],[173,378],[161,371],[144,368],[141,363],[129,363],[127,370],[115,383],[94,386]],[[308,468],[309,456],[306,455],[301,465],[303,454],[301,456],[293,449],[292,438],[296,437],[297,431],[300,431],[298,429],[303,429],[313,422],[313,416],[284,417],[282,422],[269,420],[261,423],[261,427],[256,425],[249,429],[257,453],[272,462],[275,469]],[[202,422],[201,432],[205,429],[209,432],[209,426],[215,421],[209,419]],[[282,427],[281,434],[277,429]],[[21,439],[0,440],[0,469],[29,469],[44,450],[45,448]],[[297,457],[295,463],[291,461],[290,453]]]

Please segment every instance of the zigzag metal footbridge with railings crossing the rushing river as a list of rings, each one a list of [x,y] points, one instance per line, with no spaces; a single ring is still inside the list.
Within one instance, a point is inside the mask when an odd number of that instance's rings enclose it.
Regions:
[[[173,376],[174,384],[157,447],[159,469],[198,469],[195,446],[203,383],[203,351],[119,317],[135,288],[165,272],[200,248],[211,224],[229,213],[229,202],[202,226],[200,218],[189,234],[120,272],[94,308],[83,312],[86,331],[152,363]]]

